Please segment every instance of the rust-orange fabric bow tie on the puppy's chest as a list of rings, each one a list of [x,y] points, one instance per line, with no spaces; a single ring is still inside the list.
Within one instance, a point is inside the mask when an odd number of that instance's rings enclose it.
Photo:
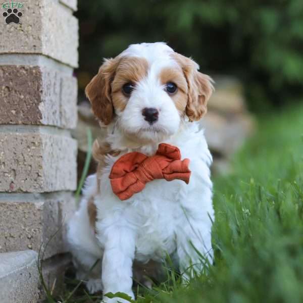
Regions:
[[[161,143],[155,156],[147,157],[134,151],[123,155],[112,168],[110,179],[113,192],[126,200],[141,191],[147,182],[155,179],[189,182],[189,159],[181,160],[178,147]]]

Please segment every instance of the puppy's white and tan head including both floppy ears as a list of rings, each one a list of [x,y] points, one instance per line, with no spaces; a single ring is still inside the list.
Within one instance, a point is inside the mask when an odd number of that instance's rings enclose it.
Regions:
[[[132,44],[100,67],[86,87],[95,116],[126,136],[160,142],[199,120],[213,91],[198,65],[165,43]]]

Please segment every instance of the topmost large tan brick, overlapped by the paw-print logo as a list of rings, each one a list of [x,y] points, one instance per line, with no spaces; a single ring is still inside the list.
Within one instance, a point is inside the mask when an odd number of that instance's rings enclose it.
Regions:
[[[71,10],[59,2],[31,0],[20,11],[19,24],[0,22],[0,54],[42,54],[78,66],[78,20]]]

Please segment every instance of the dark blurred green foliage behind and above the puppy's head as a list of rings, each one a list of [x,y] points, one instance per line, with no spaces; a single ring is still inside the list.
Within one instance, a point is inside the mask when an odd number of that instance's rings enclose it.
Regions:
[[[303,89],[302,0],[79,0],[80,93],[103,57],[130,43],[166,41],[205,73],[238,77],[250,108]]]

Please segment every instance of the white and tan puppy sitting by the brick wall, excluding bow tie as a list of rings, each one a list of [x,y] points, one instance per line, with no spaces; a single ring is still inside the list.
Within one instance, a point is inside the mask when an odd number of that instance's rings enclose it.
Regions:
[[[132,279],[144,276],[133,273],[134,262],[148,272],[152,263],[158,272],[169,254],[189,278],[213,260],[212,156],[197,122],[207,111],[213,85],[198,68],[165,43],[132,44],[105,60],[86,87],[107,135],[93,144],[97,172],[86,180],[79,210],[69,222],[68,242],[77,277],[89,275],[90,292],[121,291],[134,298]],[[113,164],[132,151],[153,156],[159,143],[177,146],[182,159],[190,159],[189,183],[153,180],[120,200],[109,179]]]

